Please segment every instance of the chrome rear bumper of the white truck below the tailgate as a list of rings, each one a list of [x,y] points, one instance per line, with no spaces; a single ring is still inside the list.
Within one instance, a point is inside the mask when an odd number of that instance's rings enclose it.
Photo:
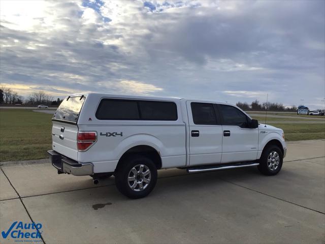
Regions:
[[[93,175],[92,163],[79,163],[68,159],[54,150],[48,150],[50,162],[59,174],[68,173],[73,175]]]

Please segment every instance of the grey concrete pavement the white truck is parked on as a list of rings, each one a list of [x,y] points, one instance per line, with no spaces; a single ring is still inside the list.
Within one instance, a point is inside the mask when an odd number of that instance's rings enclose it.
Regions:
[[[160,170],[129,200],[109,178],[58,175],[49,163],[3,165],[0,226],[41,223],[45,243],[324,243],[325,141],[288,143],[281,172]],[[15,243],[11,237],[1,243]]]

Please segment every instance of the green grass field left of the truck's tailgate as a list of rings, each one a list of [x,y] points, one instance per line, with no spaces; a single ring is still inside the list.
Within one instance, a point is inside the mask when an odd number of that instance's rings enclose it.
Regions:
[[[52,114],[0,109],[0,162],[44,159],[52,148]]]

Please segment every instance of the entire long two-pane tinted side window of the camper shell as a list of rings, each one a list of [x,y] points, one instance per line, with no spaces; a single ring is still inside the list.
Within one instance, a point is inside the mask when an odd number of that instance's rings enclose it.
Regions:
[[[172,102],[103,99],[96,111],[98,119],[177,120]]]

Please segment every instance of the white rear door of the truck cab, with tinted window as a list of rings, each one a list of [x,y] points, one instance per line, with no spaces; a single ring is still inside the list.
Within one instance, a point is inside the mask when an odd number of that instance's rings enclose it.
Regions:
[[[221,162],[222,127],[212,103],[186,102],[189,120],[189,165]]]

